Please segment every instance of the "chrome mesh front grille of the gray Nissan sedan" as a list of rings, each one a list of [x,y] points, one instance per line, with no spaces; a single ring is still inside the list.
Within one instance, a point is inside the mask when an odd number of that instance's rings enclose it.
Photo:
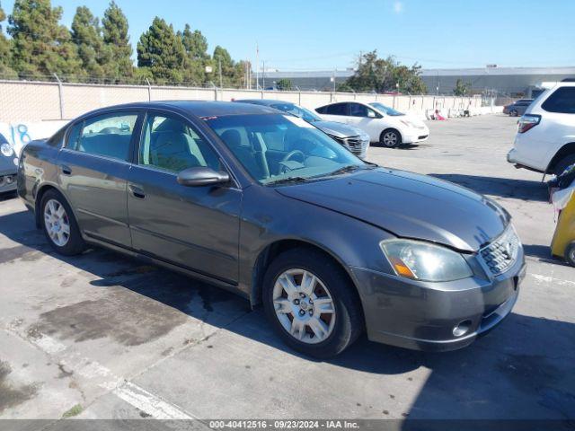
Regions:
[[[491,275],[499,276],[513,266],[519,254],[519,237],[512,225],[480,251],[483,263]]]

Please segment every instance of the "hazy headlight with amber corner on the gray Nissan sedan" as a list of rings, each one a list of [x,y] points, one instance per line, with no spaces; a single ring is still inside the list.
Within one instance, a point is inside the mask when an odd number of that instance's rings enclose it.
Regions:
[[[385,240],[379,245],[400,277],[453,281],[473,276],[463,256],[446,247],[411,240]]]

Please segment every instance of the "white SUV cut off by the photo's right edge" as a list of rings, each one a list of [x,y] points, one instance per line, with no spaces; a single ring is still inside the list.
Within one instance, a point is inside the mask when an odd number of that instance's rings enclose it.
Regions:
[[[535,172],[562,173],[575,163],[575,83],[542,92],[517,124],[508,162]]]

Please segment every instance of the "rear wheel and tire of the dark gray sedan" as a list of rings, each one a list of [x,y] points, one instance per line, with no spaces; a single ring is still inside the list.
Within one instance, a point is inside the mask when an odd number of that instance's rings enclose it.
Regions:
[[[75,256],[86,249],[72,208],[54,189],[40,201],[40,223],[50,246],[64,256]]]

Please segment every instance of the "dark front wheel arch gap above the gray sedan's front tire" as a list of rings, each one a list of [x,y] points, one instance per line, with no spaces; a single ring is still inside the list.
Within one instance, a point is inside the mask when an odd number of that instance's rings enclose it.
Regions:
[[[255,264],[252,268],[252,288],[250,292],[250,302],[252,303],[252,306],[261,303],[263,277],[265,275],[266,268],[268,268],[273,259],[277,258],[281,253],[296,248],[305,248],[307,250],[320,252],[327,258],[331,259],[336,265],[338,265],[338,267],[342,269],[342,272],[348,278],[349,284],[353,286],[355,295],[358,295],[359,305],[361,306],[363,312],[363,306],[359,298],[356,281],[349,271],[349,268],[346,267],[341,258],[319,244],[300,239],[282,239],[271,242],[258,254],[258,258],[255,260]]]

